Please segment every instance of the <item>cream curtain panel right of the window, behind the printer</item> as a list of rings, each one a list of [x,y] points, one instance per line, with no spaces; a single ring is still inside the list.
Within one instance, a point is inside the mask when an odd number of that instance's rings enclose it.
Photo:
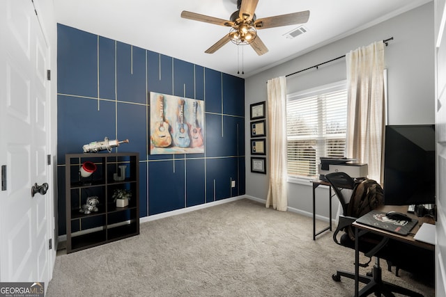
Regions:
[[[348,111],[346,156],[369,165],[369,178],[383,179],[385,131],[384,44],[346,54]]]

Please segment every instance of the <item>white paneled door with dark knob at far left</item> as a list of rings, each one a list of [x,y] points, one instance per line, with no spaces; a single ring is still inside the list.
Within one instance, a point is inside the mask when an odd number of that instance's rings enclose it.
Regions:
[[[31,0],[0,1],[0,281],[50,279],[48,51]],[[6,176],[6,178],[5,178]],[[31,186],[49,183],[46,195]]]

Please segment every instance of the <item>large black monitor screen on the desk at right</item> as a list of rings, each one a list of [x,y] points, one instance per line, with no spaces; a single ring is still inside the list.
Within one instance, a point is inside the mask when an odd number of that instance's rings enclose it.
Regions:
[[[384,201],[435,203],[435,126],[385,127]]]

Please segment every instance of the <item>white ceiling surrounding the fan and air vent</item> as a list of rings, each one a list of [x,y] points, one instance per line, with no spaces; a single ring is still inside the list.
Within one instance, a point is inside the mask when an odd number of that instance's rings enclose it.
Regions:
[[[297,38],[287,39],[284,34],[299,25],[259,30],[269,49],[263,56],[257,56],[250,46],[238,47],[231,42],[215,54],[205,54],[208,47],[229,33],[229,28],[180,17],[181,11],[189,10],[229,19],[237,10],[236,0],[54,0],[54,6],[56,21],[61,24],[213,70],[249,77],[429,1],[259,0],[258,19],[310,10],[309,21],[303,24],[307,33]]]

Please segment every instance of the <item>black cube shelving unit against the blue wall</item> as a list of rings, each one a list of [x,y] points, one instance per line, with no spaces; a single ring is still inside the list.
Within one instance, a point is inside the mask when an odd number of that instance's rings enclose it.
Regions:
[[[138,153],[66,154],[65,161],[67,253],[139,234]],[[93,162],[96,170],[82,177],[79,170],[86,161]],[[119,166],[126,166],[123,180],[114,178],[116,173],[121,177]],[[115,189],[131,191],[127,207],[116,207]],[[93,196],[98,197],[98,211],[80,212]]]

